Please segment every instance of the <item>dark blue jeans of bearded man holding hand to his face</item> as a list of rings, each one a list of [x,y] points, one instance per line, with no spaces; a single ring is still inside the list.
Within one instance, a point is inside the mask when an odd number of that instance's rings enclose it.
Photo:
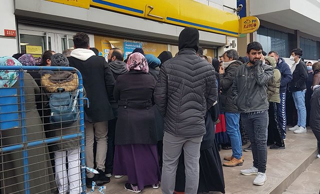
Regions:
[[[253,166],[258,168],[258,172],[265,173],[267,158],[267,128],[268,113],[241,114],[244,128],[247,129],[251,142]]]

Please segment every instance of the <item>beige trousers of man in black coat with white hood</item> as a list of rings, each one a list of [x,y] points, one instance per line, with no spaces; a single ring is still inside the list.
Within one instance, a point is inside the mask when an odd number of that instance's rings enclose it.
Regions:
[[[108,121],[103,122],[85,122],[85,166],[94,168],[93,158],[93,142],[96,140],[96,155],[95,163],[96,168],[104,171],[105,156],[107,150],[107,132],[108,132]],[[86,176],[93,178],[94,173],[86,170]]]

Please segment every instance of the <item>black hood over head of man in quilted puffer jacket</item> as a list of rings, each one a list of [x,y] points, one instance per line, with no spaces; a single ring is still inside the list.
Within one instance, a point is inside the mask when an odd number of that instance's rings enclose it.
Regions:
[[[199,48],[199,31],[194,27],[185,27],[179,34],[179,50],[183,48]]]

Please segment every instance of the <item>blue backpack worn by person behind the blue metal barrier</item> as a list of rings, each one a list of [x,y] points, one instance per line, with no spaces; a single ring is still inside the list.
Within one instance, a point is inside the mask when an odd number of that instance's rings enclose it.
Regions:
[[[71,124],[76,121],[78,109],[77,109],[77,96],[79,90],[76,90],[76,94],[68,91],[64,91],[63,88],[58,88],[58,92],[52,93],[49,97],[50,117],[49,121],[52,124],[60,125]]]

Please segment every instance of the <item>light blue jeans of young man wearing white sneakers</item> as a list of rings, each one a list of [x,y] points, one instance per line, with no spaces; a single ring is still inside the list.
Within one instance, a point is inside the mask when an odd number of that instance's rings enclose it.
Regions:
[[[305,89],[303,91],[293,91],[292,97],[294,101],[295,108],[298,114],[298,126],[302,126],[305,128],[306,122],[306,109],[305,109]]]

